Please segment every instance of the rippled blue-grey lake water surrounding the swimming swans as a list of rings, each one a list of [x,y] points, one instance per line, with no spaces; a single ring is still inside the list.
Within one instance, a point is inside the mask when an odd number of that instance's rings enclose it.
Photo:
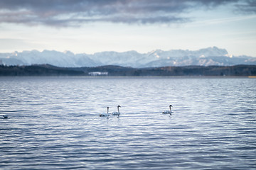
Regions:
[[[256,169],[256,79],[1,77],[0,96],[0,169]]]

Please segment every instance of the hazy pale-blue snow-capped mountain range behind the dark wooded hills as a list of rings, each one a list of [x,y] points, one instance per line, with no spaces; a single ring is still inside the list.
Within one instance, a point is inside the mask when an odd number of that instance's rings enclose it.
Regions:
[[[93,55],[74,54],[70,51],[58,52],[37,50],[0,53],[0,64],[31,65],[52,64],[58,67],[96,67],[101,65],[119,65],[123,67],[165,67],[187,65],[219,65],[256,64],[256,57],[233,56],[227,50],[208,47],[201,50],[154,50],[147,53],[97,52]]]

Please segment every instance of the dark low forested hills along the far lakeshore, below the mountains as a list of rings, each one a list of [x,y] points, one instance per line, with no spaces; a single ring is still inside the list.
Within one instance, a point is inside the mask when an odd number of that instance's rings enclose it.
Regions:
[[[0,65],[0,76],[90,76],[92,72],[107,72],[107,76],[129,77],[247,77],[256,76],[256,65],[235,66],[184,66],[184,67],[151,67],[132,68],[107,65],[101,67],[55,67],[49,64],[30,66]],[[95,75],[95,74],[94,74]],[[106,74],[98,74],[104,75]]]

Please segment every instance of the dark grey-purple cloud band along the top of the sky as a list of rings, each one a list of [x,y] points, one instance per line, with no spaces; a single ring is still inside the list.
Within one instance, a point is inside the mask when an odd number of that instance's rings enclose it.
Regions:
[[[241,1],[241,0],[240,0]],[[197,8],[236,4],[240,11],[255,11],[255,1],[244,0],[6,0],[0,1],[0,23],[80,26],[89,22],[127,24],[186,23],[181,17]]]

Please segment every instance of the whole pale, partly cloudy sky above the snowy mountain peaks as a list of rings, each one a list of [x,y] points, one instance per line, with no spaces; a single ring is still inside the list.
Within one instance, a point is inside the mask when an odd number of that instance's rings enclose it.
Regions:
[[[256,0],[0,0],[0,52],[213,46],[256,57]]]

